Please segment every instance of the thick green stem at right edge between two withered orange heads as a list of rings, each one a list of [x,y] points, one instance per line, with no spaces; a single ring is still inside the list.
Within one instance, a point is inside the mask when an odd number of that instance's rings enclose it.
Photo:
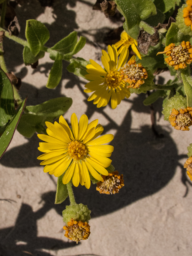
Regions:
[[[183,80],[184,90],[187,98],[187,106],[192,107],[192,79],[190,77],[189,68],[180,71]]]

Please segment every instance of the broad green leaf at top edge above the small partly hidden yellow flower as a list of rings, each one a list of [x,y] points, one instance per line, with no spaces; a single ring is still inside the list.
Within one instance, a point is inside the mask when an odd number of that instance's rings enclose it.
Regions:
[[[151,0],[116,0],[115,2],[125,17],[127,30],[137,25],[140,20],[146,20],[157,13]]]

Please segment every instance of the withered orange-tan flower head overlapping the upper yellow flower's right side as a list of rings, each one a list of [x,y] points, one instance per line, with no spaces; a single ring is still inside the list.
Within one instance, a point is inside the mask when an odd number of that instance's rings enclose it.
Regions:
[[[141,64],[135,63],[135,60],[129,60],[128,63],[121,68],[120,81],[124,80],[129,83],[127,88],[139,88],[144,84],[144,79],[148,78],[146,69]]]

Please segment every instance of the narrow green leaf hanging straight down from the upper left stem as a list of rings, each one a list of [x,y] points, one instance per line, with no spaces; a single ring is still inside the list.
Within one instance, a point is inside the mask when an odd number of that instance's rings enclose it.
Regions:
[[[48,81],[46,84],[47,88],[53,89],[56,86],[58,86],[61,78],[62,78],[62,56],[60,54],[57,54],[56,60],[51,68],[51,71],[49,73]]]

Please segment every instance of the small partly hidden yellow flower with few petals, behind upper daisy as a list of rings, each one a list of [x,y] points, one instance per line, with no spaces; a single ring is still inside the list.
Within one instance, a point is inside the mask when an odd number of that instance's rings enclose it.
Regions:
[[[141,55],[140,55],[140,53],[139,53],[139,51],[137,49],[137,41],[134,38],[130,37],[125,32],[125,30],[121,33],[121,40],[116,42],[114,45],[116,46],[116,48],[120,47],[120,49],[118,50],[118,55],[122,52],[124,46],[126,46],[127,49],[129,48],[129,46],[131,46],[131,48],[134,51],[134,53],[141,60]]]

